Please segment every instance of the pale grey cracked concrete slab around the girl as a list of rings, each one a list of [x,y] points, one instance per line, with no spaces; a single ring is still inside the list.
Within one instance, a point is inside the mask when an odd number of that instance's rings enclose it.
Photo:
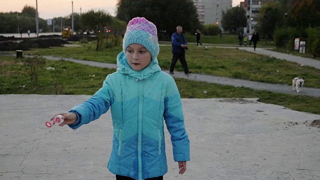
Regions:
[[[110,113],[77,130],[45,121],[89,95],[0,95],[0,179],[115,179]],[[320,179],[320,115],[249,99],[182,99],[191,160],[164,179]]]

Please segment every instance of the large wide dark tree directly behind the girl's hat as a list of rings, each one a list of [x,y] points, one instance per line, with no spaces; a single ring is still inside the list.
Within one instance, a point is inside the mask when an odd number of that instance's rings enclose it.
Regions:
[[[177,25],[184,31],[195,31],[200,26],[192,0],[118,0],[116,6],[118,19],[128,22],[133,17],[145,17],[158,31],[170,35]]]

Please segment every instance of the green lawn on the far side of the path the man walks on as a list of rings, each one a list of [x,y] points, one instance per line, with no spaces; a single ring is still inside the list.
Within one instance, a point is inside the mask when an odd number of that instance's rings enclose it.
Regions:
[[[168,43],[162,44],[167,45]],[[320,83],[318,83],[320,69],[300,66],[294,62],[239,49],[215,47],[205,49],[203,46],[195,46],[194,44],[189,44],[188,47],[186,60],[189,69],[195,73],[288,85],[292,83],[293,77],[300,76],[307,79],[304,86],[320,88]],[[100,51],[94,49],[95,43],[93,42],[91,44],[81,44],[80,47],[34,49],[25,51],[25,53],[116,63],[116,55],[122,50],[122,47],[117,46]],[[160,46],[158,55],[160,67],[169,69],[171,58],[171,46]],[[179,62],[177,62],[175,70],[182,71]]]

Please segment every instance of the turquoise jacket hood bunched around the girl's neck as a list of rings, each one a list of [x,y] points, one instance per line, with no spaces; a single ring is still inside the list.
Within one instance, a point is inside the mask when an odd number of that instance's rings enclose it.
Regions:
[[[146,66],[144,69],[136,71],[133,70],[130,65],[128,64],[127,58],[123,51],[121,51],[117,57],[116,57],[116,64],[118,68],[116,71],[128,74],[129,76],[132,76],[134,78],[137,78],[139,80],[149,78],[153,75],[153,73],[157,71],[161,71],[160,66],[158,65],[158,60],[156,57],[152,58],[150,64]]]

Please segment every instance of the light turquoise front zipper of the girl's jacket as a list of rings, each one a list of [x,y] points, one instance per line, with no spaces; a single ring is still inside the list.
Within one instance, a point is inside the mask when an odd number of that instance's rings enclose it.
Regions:
[[[139,79],[136,79],[138,82]],[[139,113],[138,113],[138,179],[142,179],[142,105],[143,105],[143,87],[142,82],[138,82],[139,95]]]

